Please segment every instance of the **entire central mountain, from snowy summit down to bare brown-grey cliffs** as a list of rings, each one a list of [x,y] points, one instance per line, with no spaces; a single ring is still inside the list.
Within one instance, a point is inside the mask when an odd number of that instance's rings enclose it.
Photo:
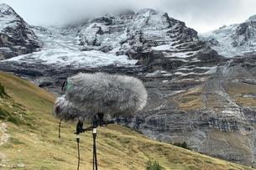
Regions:
[[[56,94],[81,71],[136,76],[149,92],[148,105],[121,123],[161,142],[186,142],[197,152],[256,166],[255,55],[221,55],[194,29],[153,9],[32,30],[41,50],[3,60],[1,70]]]

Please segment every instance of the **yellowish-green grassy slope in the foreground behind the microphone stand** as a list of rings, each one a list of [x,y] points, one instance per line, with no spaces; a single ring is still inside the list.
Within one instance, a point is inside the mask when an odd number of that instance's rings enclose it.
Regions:
[[[0,82],[11,98],[0,99],[1,119],[8,125],[8,142],[0,146],[6,157],[0,169],[76,169],[75,124],[58,122],[52,112],[55,97],[13,75],[0,72]],[[3,114],[4,113],[4,114]],[[2,118],[1,118],[2,114]],[[1,135],[1,133],[0,133]],[[81,135],[81,169],[91,169],[91,134]],[[165,169],[249,169],[231,162],[155,142],[123,126],[100,127],[97,136],[99,169],[145,169],[149,157]],[[10,169],[9,167],[6,169]]]

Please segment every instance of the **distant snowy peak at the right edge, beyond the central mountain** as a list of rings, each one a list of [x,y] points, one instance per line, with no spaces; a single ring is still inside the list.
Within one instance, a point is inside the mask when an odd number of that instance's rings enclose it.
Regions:
[[[201,34],[212,49],[225,57],[256,53],[256,15],[244,23],[223,26],[215,31]]]

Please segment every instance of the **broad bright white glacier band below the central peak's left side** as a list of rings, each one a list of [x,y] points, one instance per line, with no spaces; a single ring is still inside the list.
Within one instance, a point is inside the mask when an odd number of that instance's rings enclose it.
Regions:
[[[135,59],[126,55],[106,54],[97,50],[73,51],[69,49],[43,49],[33,54],[20,55],[5,61],[26,61],[29,63],[54,64],[57,66],[72,65],[74,67],[99,67],[110,64],[134,65]]]

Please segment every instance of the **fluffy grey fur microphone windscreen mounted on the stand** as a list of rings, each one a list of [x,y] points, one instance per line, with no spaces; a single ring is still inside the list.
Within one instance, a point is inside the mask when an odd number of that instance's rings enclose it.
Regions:
[[[131,76],[80,73],[67,83],[65,95],[55,100],[54,114],[60,119],[90,120],[97,112],[107,117],[133,116],[147,104],[143,82]]]

